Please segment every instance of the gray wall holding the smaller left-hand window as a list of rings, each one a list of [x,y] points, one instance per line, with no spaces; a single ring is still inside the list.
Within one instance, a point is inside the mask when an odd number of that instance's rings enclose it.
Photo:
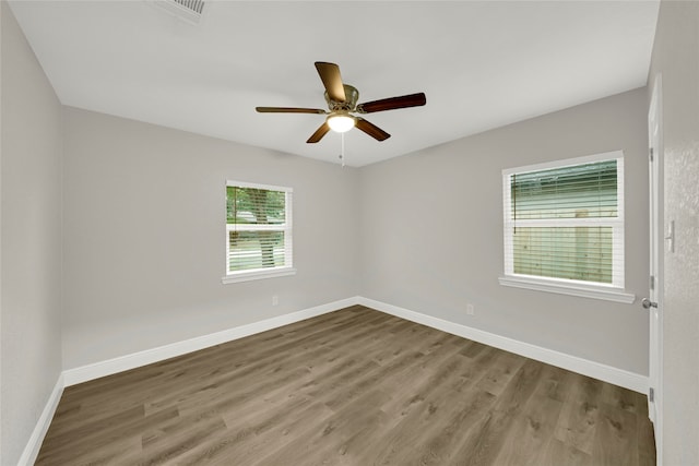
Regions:
[[[356,169],[74,108],[64,126],[64,369],[357,294]],[[226,179],[294,189],[296,275],[221,284]]]

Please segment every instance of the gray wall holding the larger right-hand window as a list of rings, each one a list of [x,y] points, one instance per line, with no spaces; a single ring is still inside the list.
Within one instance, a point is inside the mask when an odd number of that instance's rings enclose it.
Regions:
[[[645,89],[612,96],[362,169],[367,298],[648,374],[637,304],[503,287],[501,170],[625,153],[626,288],[648,275]],[[466,315],[466,303],[475,315]]]

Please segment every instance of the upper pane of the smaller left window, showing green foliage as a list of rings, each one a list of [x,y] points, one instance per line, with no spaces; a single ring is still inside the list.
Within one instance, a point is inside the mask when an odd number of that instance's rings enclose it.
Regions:
[[[227,187],[226,222],[238,225],[283,225],[286,222],[285,200],[284,191]]]

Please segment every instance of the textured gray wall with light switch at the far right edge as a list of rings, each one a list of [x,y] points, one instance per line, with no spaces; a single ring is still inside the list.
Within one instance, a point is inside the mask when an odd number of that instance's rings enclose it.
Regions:
[[[663,1],[649,80],[662,73],[664,223],[663,462],[699,464],[699,3]],[[650,94],[649,94],[650,98]]]

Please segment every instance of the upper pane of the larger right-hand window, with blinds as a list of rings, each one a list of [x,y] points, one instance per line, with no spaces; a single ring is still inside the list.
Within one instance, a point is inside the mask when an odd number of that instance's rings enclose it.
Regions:
[[[513,175],[513,218],[616,217],[616,160],[605,160]]]

